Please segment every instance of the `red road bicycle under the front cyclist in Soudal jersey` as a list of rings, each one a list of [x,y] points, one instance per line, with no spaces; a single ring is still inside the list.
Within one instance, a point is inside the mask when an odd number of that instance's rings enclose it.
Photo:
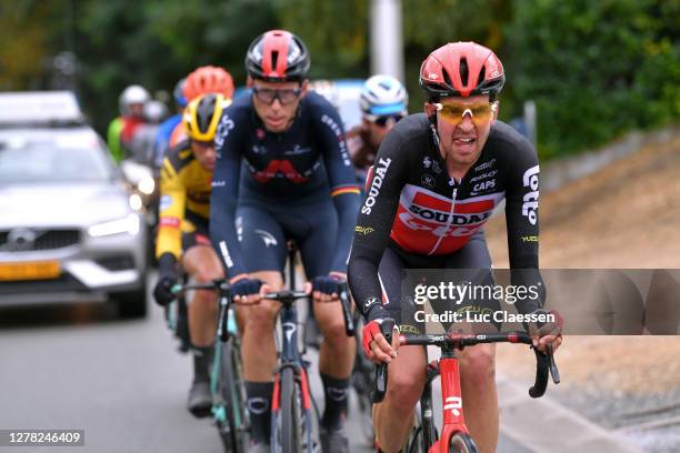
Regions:
[[[381,332],[391,344],[393,320],[384,320]],[[427,365],[426,385],[420,396],[420,411],[417,413],[418,423],[414,426],[407,445],[408,453],[477,453],[477,445],[470,436],[463,420],[462,394],[460,390],[459,358],[456,350],[481,343],[520,343],[531,344],[531,336],[527,332],[461,334],[448,333],[444,335],[399,335],[400,345],[437,346],[441,350],[441,359]],[[548,374],[558,384],[560,374],[552,356],[552,350],[547,353],[533,348],[536,353],[536,381],[529,389],[531,397],[540,397],[548,386]],[[443,426],[439,434],[432,411],[432,381],[441,376],[441,402]],[[380,402],[384,397],[388,383],[388,366],[380,364],[376,368],[376,387],[373,401]]]

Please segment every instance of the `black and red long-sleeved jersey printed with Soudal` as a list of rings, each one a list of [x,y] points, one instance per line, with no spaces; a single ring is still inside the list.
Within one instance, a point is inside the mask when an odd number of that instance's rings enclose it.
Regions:
[[[372,311],[371,303],[381,300],[378,265],[388,243],[410,254],[451,254],[483,226],[503,198],[510,268],[538,270],[539,165],[531,144],[496,121],[480,158],[456,181],[436,141],[427,117],[418,113],[397,123],[378,151],[348,273],[358,306],[369,319],[366,309]],[[538,272],[518,275],[540,279]],[[531,284],[519,279],[513,275],[512,284]]]

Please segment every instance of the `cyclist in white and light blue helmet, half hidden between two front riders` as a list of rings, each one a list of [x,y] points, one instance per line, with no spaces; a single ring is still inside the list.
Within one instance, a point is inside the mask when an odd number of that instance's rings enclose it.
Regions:
[[[347,145],[357,169],[357,180],[363,187],[382,139],[408,114],[409,95],[393,77],[373,76],[363,84],[359,102],[363,119],[361,124],[348,131]]]

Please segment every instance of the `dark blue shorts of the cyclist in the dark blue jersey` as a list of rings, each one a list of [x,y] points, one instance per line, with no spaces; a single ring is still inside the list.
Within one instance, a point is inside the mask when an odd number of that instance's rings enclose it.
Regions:
[[[338,213],[330,198],[282,204],[244,198],[237,209],[237,232],[248,272],[283,272],[287,240],[296,241],[308,279],[330,272],[338,238]]]

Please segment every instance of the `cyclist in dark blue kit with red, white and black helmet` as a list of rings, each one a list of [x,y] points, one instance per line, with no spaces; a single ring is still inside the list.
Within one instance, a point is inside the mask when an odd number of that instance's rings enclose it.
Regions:
[[[269,451],[279,305],[258,291],[260,281],[274,291],[283,286],[288,239],[300,248],[324,336],[323,451],[348,451],[343,420],[353,339],[344,333],[341,305],[322,302],[337,302],[334,288],[346,279],[359,189],[337,111],[307,92],[309,64],[296,36],[273,30],[258,37],[246,58],[252,93],[226,110],[217,138],[210,234],[241,303],[243,374],[259,451]]]

